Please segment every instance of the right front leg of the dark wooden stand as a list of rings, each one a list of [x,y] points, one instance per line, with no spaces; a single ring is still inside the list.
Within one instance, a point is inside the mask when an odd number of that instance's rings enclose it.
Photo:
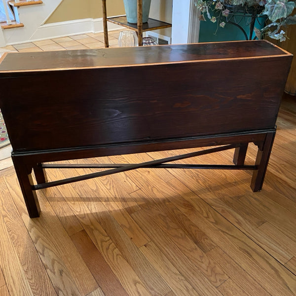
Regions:
[[[254,192],[260,191],[262,189],[274,136],[275,131],[266,134],[263,148],[258,149],[255,162],[255,165],[258,165],[258,170],[255,170],[253,172],[251,181],[251,188]]]

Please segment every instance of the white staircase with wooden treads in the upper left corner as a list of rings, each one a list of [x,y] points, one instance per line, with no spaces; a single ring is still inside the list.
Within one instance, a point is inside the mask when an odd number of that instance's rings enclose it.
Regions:
[[[62,0],[0,0],[0,47],[30,40]],[[9,29],[9,30],[7,30]]]

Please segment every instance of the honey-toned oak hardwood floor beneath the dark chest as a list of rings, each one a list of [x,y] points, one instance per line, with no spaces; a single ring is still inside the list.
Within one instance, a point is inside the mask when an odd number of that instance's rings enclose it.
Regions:
[[[13,167],[0,171],[0,295],[296,295],[295,97],[285,96],[277,125],[257,193],[248,171],[140,169],[38,191],[41,216],[29,219]],[[183,161],[231,164],[232,153]]]

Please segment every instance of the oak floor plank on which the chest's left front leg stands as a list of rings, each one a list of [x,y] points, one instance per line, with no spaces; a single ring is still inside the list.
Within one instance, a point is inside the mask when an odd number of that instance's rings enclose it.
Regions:
[[[61,293],[66,295],[87,295],[97,289],[95,279],[60,220],[54,215],[44,193],[38,192],[38,198],[43,205],[42,214],[38,219],[30,219],[21,199],[16,177],[7,177],[5,181],[9,184],[10,192],[14,194],[19,212],[24,213],[22,219],[56,291],[62,291]]]

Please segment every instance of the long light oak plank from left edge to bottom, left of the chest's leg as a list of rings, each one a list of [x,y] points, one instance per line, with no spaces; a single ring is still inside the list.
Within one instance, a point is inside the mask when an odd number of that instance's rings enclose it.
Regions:
[[[34,295],[56,296],[28,230],[4,180],[0,182],[0,213]]]

